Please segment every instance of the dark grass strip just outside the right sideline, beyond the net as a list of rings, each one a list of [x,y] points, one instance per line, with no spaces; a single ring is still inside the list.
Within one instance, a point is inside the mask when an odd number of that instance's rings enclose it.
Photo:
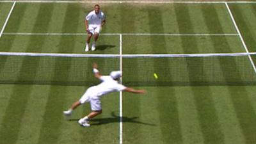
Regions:
[[[256,17],[256,6],[252,4],[252,9],[254,11]],[[248,51],[255,52],[256,51],[256,39],[255,35],[253,35],[252,28],[248,27],[248,23],[253,23],[252,21],[247,21],[244,19],[244,15],[241,13],[241,9],[239,4],[230,4],[230,10],[233,13],[234,19],[236,20],[236,24],[243,36],[244,42],[248,47]],[[255,22],[254,22],[255,24]],[[255,25],[256,26],[256,25]]]

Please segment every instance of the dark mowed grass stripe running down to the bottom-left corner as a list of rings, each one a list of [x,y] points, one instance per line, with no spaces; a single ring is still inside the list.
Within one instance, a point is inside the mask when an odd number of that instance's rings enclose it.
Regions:
[[[40,13],[43,13],[45,10],[44,8],[40,8]],[[49,14],[49,13],[47,13]],[[40,16],[38,14],[38,16]],[[37,17],[36,22],[38,22],[39,17]],[[33,29],[36,29],[34,27]],[[45,29],[47,29],[47,26],[45,26]],[[30,49],[31,45],[33,45],[33,38],[30,39],[30,45],[28,45],[27,49]],[[38,47],[42,47],[44,44],[44,40],[40,41],[37,45]],[[19,75],[17,77],[17,81],[22,81],[24,75],[28,74],[28,69],[26,65],[33,64],[38,65],[40,59],[33,59],[26,57],[22,60],[22,66],[19,71]],[[30,77],[31,79],[35,78],[36,76],[36,67],[30,68],[29,72],[31,73]],[[26,86],[26,95],[21,94],[20,92],[20,86],[14,86],[13,88],[13,94],[10,99],[10,104],[8,105],[6,109],[6,113],[4,115],[4,121],[3,121],[3,127],[1,127],[0,133],[0,141],[6,141],[6,143],[12,144],[17,141],[19,129],[21,125],[20,119],[24,115],[24,111],[26,109],[26,104],[28,102],[29,93],[32,90],[32,85]],[[7,131],[6,131],[7,130]],[[5,138],[4,138],[5,137]]]

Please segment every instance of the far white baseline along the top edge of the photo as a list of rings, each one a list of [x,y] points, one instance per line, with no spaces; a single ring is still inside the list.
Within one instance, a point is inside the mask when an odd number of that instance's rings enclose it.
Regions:
[[[256,1],[17,1],[18,3],[184,3],[184,4],[221,4],[221,3],[256,3]],[[13,1],[0,1],[0,3],[13,3]]]

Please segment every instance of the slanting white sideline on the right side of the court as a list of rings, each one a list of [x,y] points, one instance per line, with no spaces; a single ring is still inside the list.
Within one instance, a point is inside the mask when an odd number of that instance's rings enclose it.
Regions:
[[[239,34],[239,37],[240,37],[240,39],[241,39],[241,42],[242,42],[242,44],[243,44],[243,46],[244,46],[245,51],[246,51],[246,53],[249,53],[249,51],[248,51],[248,49],[247,49],[247,46],[246,46],[246,44],[245,44],[245,42],[244,42],[243,36],[241,35],[241,33],[240,33],[240,31],[239,31],[239,29],[238,29],[238,27],[237,27],[236,20],[234,19],[233,15],[232,15],[232,12],[231,12],[231,10],[230,10],[228,4],[225,3],[225,5],[226,5],[227,10],[228,10],[228,13],[229,13],[229,15],[230,15],[230,17],[231,17],[231,19],[232,19],[232,21],[233,21],[233,24],[234,24],[234,26],[236,27],[236,31],[237,31],[237,33]],[[254,65],[254,63],[253,63],[252,56],[248,55],[248,57],[249,57],[249,59],[250,59],[250,61],[251,61],[251,63],[252,63],[253,70],[254,70],[254,72],[255,72],[255,74],[256,74],[256,67],[255,67],[255,65]]]

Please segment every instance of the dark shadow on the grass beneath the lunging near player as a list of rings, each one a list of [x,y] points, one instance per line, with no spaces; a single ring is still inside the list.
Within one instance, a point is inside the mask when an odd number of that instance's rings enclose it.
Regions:
[[[120,116],[115,115],[114,112],[111,113],[110,118],[92,118],[90,120],[91,125],[104,125],[104,124],[109,124],[109,123],[119,123],[120,122]],[[143,124],[143,125],[150,125],[150,126],[156,126],[155,124],[149,124],[146,122],[140,122],[136,120],[138,117],[127,117],[127,116],[122,116],[122,122],[123,123],[135,123],[135,124]],[[78,119],[71,119],[70,121],[74,121]]]

